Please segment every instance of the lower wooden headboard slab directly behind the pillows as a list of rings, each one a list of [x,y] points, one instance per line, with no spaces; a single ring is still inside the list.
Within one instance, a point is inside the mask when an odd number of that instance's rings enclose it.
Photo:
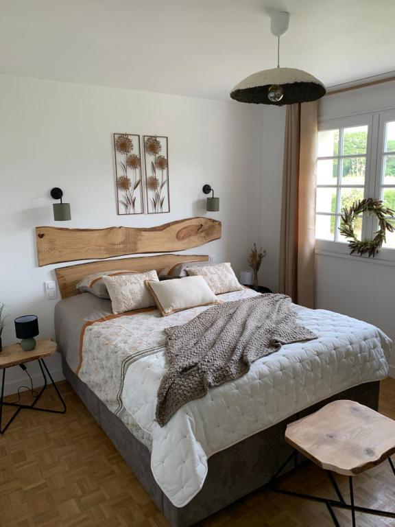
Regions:
[[[87,264],[75,264],[73,266],[60,267],[55,270],[56,278],[62,298],[67,298],[80,291],[75,288],[77,283],[88,274],[110,270],[128,270],[143,272],[176,266],[183,261],[208,261],[207,255],[156,255],[137,256],[132,258],[119,258],[113,260],[90,261]]]

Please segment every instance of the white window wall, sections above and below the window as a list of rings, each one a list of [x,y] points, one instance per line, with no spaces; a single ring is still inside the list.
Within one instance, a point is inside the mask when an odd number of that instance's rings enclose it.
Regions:
[[[324,97],[319,116],[328,119],[386,108],[395,108],[395,82]],[[366,320],[395,342],[395,266],[360,257],[316,255],[315,273],[316,307]]]

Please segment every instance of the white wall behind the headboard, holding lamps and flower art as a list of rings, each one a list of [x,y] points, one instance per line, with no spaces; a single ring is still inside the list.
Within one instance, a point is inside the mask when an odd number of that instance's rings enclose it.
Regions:
[[[16,340],[13,319],[27,313],[38,315],[40,338],[53,337],[59,298],[45,300],[43,282],[54,279],[56,266],[38,268],[35,226],[154,226],[205,215],[201,189],[209,183],[220,211],[208,215],[222,221],[223,237],[189,252],[231,261],[236,272],[246,268],[259,240],[261,108],[1,75],[0,91],[0,300],[9,314],[4,344]],[[117,215],[113,132],[169,137],[171,213]],[[71,222],[53,222],[49,191],[56,186],[71,203]],[[48,363],[61,378],[59,357]],[[19,368],[8,371],[8,393],[23,375]]]

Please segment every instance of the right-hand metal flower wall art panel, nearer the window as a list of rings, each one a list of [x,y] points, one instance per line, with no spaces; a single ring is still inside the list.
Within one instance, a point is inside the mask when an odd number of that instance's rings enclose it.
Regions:
[[[144,136],[145,189],[149,214],[170,212],[167,137]]]

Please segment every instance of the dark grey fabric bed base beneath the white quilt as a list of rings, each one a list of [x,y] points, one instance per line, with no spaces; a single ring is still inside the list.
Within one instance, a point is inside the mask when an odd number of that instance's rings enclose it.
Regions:
[[[376,410],[379,382],[361,384],[325,399],[208,459],[208,474],[202,490],[182,508],[173,506],[154,480],[150,452],[115,414],[71,371],[62,358],[64,376],[97,423],[115,445],[136,478],[174,527],[189,527],[269,482],[291,454],[284,434],[288,423],[315,412],[329,401],[351,399]]]

